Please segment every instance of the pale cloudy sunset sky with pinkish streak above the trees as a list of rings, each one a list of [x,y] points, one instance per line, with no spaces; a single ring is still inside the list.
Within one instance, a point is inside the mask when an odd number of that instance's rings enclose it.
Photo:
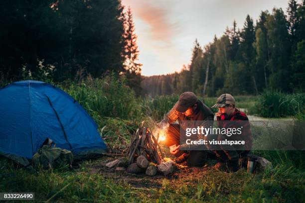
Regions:
[[[288,1],[122,0],[122,4],[133,12],[142,75],[152,76],[187,66],[196,38],[204,46],[215,34],[222,36],[233,20],[242,28],[247,14],[256,22],[262,10],[272,12],[277,7],[286,12]]]

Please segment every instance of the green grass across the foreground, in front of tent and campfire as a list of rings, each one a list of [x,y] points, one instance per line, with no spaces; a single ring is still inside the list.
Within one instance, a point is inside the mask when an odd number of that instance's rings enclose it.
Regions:
[[[0,190],[34,192],[38,202],[303,202],[305,172],[296,168],[287,152],[257,152],[274,169],[250,175],[245,170],[226,174],[207,168],[183,178],[161,178],[159,186],[135,188],[126,181],[91,174],[84,161],[74,171],[38,174],[0,159]],[[304,154],[302,155],[304,156]],[[90,164],[99,162],[91,161]],[[139,177],[141,181],[141,177]]]

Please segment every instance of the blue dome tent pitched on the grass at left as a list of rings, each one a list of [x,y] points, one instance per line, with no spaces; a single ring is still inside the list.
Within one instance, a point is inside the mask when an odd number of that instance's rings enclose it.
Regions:
[[[74,156],[105,153],[97,124],[64,91],[39,81],[0,89],[0,152],[31,159],[46,138]]]

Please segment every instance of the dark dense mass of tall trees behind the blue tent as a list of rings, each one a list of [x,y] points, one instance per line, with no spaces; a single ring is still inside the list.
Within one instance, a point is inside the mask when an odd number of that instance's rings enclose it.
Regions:
[[[39,72],[36,59],[56,67],[54,81],[123,72],[124,13],[120,0],[1,1],[1,71],[16,81],[22,65]],[[28,74],[28,72],[27,72]]]

